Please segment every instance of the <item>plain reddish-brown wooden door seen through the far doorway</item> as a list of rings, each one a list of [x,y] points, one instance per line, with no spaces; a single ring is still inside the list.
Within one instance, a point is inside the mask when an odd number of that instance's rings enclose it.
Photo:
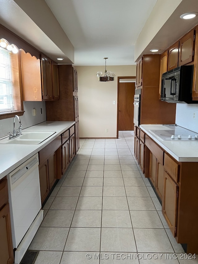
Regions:
[[[133,130],[133,100],[135,82],[119,83],[118,130]]]

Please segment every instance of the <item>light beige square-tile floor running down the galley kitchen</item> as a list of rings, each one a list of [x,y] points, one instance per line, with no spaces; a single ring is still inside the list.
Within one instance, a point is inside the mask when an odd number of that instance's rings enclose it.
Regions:
[[[184,259],[133,154],[131,131],[80,140],[29,246],[40,250],[35,264],[198,263]]]

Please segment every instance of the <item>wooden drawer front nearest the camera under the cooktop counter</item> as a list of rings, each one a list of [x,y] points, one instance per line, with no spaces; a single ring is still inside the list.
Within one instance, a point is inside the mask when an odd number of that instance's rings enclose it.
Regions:
[[[175,162],[168,154],[164,155],[164,170],[173,178],[175,182],[179,179],[179,164]]]

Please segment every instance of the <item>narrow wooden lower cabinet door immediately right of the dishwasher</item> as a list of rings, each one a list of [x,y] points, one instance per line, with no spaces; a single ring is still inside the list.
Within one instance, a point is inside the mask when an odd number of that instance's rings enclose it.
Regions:
[[[41,190],[41,204],[45,201],[49,193],[49,177],[48,177],[48,162],[44,162],[43,165],[39,165],[39,180]]]

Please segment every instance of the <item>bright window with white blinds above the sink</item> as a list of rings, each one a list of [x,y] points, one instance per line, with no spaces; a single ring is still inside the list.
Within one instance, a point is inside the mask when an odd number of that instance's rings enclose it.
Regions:
[[[18,54],[0,47],[0,116],[12,117],[23,110],[20,97]],[[22,112],[23,113],[23,112]],[[7,116],[5,116],[7,115]]]

